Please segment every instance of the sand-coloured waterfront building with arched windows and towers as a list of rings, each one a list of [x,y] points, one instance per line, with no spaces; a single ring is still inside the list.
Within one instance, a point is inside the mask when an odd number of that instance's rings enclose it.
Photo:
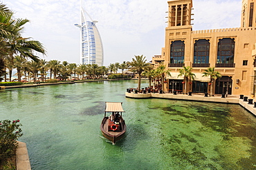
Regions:
[[[256,71],[256,0],[242,1],[241,28],[192,30],[192,0],[168,1],[168,25],[162,50],[167,76],[166,91],[184,89],[183,66],[196,75],[187,89],[209,92],[210,77],[203,77],[208,67],[221,74],[214,85],[215,94],[255,95]]]

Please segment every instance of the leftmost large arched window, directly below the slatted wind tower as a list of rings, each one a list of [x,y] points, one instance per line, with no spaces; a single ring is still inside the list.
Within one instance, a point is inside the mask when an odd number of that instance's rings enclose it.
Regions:
[[[182,67],[184,63],[185,43],[184,41],[173,41],[171,44],[170,67]]]

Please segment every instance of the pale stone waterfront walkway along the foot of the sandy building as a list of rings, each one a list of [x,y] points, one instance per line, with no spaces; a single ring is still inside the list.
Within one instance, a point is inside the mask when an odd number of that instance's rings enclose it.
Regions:
[[[188,96],[187,94],[172,94],[172,93],[148,93],[148,94],[135,94],[125,92],[125,96],[127,98],[165,98],[172,100],[192,100],[192,101],[201,101],[201,102],[214,102],[214,103],[231,103],[231,104],[239,104],[250,113],[256,116],[256,107],[253,104],[249,104],[248,100],[239,99],[238,95],[228,95],[226,98],[222,98],[221,94],[215,94],[214,96],[205,97],[205,94],[192,94],[192,96]],[[248,96],[245,96],[248,97]],[[255,100],[256,101],[256,100]],[[252,99],[250,99],[250,103],[253,103]]]

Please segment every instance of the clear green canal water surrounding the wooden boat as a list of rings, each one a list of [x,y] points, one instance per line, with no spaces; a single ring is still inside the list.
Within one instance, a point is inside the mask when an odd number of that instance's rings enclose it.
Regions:
[[[125,98],[137,81],[0,91],[0,119],[20,119],[32,169],[256,169],[256,118],[239,105]],[[142,87],[147,87],[143,81]],[[102,137],[104,102],[127,133]]]

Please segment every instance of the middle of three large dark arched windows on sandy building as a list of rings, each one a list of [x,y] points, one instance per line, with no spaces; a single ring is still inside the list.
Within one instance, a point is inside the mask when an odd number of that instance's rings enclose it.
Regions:
[[[194,43],[193,67],[209,67],[209,40],[199,39]],[[205,65],[206,64],[206,65]]]

